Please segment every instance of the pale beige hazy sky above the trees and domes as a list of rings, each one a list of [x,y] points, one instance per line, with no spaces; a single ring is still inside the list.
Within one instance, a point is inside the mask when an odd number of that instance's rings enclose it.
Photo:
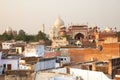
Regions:
[[[0,33],[7,27],[46,33],[60,16],[65,25],[86,24],[120,30],[120,0],[0,0]]]

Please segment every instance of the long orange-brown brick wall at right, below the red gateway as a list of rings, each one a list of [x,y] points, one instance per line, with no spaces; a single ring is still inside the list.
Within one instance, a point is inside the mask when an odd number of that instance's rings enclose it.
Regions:
[[[103,50],[95,48],[71,48],[68,50],[72,62],[90,61],[92,58],[98,61],[104,61],[118,57],[120,54],[120,43],[103,44]]]

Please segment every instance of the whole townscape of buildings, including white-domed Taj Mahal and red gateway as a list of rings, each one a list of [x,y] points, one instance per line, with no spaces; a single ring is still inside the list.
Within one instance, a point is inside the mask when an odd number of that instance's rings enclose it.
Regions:
[[[58,18],[50,31],[51,45],[0,43],[0,80],[120,80],[120,38],[115,33],[87,25],[66,30]]]

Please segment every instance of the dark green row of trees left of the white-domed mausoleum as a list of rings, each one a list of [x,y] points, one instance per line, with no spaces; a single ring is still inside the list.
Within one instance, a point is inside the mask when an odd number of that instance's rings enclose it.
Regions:
[[[45,33],[39,31],[36,35],[28,35],[23,32],[23,30],[19,31],[17,35],[13,33],[7,34],[4,32],[0,35],[0,41],[8,41],[8,40],[15,40],[15,41],[26,41],[26,42],[36,42],[39,40],[48,40],[48,37]]]

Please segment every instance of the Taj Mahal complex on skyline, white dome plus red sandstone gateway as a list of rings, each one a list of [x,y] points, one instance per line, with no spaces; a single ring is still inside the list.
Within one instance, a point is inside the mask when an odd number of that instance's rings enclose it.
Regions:
[[[60,43],[63,36],[69,35],[69,44],[75,44],[78,40],[81,42],[104,40],[106,37],[115,37],[115,30],[106,27],[103,31],[98,26],[89,27],[86,24],[65,26],[64,21],[58,17],[49,30],[49,39],[53,42]],[[58,41],[58,42],[57,42]],[[67,42],[66,42],[67,45]],[[58,46],[58,45],[57,45]]]

